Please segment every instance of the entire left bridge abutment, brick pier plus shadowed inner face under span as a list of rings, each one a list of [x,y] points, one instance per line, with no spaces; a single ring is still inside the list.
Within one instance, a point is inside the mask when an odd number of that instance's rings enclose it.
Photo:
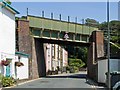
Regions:
[[[18,51],[30,55],[29,79],[45,76],[46,67],[43,43],[30,35],[29,21],[18,20],[16,21],[16,26]]]

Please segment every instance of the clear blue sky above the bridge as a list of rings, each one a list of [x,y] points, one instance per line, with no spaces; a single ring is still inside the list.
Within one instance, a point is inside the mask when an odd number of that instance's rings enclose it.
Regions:
[[[59,14],[62,20],[82,23],[82,19],[95,19],[102,23],[107,21],[107,5],[106,2],[12,2],[12,6],[20,12],[17,16],[25,16],[27,14],[34,16],[42,16],[45,12],[46,18],[51,18],[53,12],[54,19],[59,20]],[[118,20],[118,2],[110,2],[110,20]]]

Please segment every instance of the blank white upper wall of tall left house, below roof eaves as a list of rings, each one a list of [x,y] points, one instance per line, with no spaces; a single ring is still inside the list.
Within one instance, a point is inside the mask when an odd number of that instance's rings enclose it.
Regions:
[[[0,54],[1,52],[15,54],[15,14],[0,4]]]

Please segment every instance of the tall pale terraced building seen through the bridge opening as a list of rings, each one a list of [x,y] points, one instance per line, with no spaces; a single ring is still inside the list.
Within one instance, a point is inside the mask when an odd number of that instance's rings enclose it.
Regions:
[[[46,72],[55,71],[68,65],[68,52],[57,44],[46,44]]]

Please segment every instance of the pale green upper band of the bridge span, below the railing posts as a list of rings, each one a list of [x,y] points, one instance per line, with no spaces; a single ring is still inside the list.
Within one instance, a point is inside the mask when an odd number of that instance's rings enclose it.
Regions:
[[[28,16],[28,20],[30,23],[30,27],[44,28],[55,31],[91,35],[93,31],[98,30],[98,28],[89,27],[82,24],[71,22],[68,23],[66,21],[59,21],[43,17]]]

